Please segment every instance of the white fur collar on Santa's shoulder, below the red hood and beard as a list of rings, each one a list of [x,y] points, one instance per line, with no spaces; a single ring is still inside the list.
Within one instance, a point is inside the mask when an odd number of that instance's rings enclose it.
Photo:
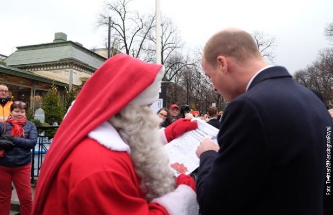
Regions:
[[[108,122],[104,122],[95,130],[89,132],[88,137],[113,151],[131,153],[130,146],[121,139],[116,129]]]

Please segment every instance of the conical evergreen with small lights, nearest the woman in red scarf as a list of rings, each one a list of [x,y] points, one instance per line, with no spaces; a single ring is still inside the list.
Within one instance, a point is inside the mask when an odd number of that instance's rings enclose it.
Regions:
[[[60,124],[64,118],[64,106],[60,102],[58,89],[54,84],[52,84],[50,91],[46,93],[43,99],[42,109],[45,113],[45,122],[50,125],[54,122]]]

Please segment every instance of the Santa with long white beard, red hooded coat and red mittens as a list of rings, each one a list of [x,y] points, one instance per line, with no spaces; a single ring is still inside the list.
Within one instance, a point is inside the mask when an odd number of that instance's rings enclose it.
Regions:
[[[94,72],[46,154],[33,215],[198,214],[194,180],[174,178],[161,143],[197,124],[181,119],[158,130],[149,107],[164,71],[119,54]]]

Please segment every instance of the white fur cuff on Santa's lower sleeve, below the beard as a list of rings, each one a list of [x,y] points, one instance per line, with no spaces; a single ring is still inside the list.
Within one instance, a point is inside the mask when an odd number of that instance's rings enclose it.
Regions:
[[[169,215],[198,215],[199,206],[196,200],[196,193],[187,185],[179,185],[173,192],[153,199],[162,205]]]

